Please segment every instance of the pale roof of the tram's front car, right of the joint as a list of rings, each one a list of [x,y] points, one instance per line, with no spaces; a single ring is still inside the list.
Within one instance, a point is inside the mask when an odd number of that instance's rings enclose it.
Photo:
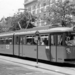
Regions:
[[[15,32],[15,35],[22,35],[22,34],[34,34],[36,31],[39,31],[39,33],[49,33],[49,32],[69,32],[73,31],[73,27],[40,27],[40,28],[32,28],[32,29],[26,29],[21,30],[18,32]]]

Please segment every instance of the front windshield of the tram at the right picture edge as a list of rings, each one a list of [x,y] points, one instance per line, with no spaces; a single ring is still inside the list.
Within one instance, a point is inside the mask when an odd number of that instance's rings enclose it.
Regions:
[[[67,34],[65,42],[68,46],[75,46],[75,33]]]

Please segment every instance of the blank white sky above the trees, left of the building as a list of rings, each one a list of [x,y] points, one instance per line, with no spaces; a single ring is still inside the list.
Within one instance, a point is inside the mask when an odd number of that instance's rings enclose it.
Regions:
[[[19,8],[24,8],[24,0],[0,0],[0,19],[13,16]]]

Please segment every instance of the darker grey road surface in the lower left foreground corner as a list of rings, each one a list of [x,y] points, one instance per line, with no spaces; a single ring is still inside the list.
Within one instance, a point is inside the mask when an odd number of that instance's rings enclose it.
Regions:
[[[55,75],[24,68],[15,64],[0,60],[0,75]]]

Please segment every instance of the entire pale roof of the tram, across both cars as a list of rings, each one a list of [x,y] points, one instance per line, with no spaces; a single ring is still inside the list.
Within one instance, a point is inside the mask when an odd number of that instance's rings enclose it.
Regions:
[[[69,32],[73,31],[73,27],[53,27],[53,26],[34,27],[31,29],[21,29],[17,31],[1,33],[0,36],[10,36],[13,34],[15,35],[34,34],[36,31],[39,31],[39,33]]]

